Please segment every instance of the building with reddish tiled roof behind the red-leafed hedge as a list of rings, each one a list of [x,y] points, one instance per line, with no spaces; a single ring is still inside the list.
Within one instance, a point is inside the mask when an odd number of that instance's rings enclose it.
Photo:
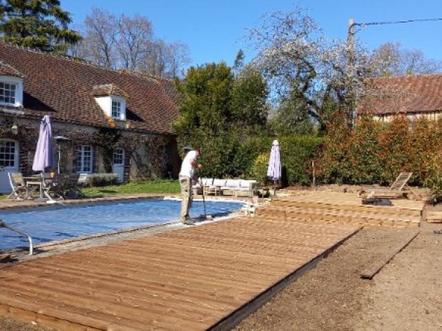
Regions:
[[[381,77],[365,81],[358,114],[373,114],[379,121],[391,121],[403,114],[410,121],[442,118],[442,74]]]

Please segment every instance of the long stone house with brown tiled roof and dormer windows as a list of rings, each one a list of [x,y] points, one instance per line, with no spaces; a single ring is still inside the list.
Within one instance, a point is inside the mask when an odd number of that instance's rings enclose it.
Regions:
[[[173,81],[0,43],[0,192],[8,172],[32,173],[44,115],[61,172],[176,176],[175,101]]]

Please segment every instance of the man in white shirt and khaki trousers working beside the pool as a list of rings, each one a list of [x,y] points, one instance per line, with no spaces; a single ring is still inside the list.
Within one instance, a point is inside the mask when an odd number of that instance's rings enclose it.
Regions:
[[[181,164],[180,187],[181,187],[181,221],[186,225],[193,225],[194,222],[189,218],[189,205],[192,199],[192,178],[195,168],[200,169],[202,165],[196,162],[200,156],[200,150],[190,150]]]

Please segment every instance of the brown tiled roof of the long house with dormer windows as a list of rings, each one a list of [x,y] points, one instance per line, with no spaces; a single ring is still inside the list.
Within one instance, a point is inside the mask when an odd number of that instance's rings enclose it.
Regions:
[[[23,110],[53,119],[108,126],[93,96],[93,87],[111,84],[128,94],[128,127],[149,132],[173,133],[177,117],[175,101],[162,79],[112,70],[36,50],[0,43],[0,61],[26,74]]]

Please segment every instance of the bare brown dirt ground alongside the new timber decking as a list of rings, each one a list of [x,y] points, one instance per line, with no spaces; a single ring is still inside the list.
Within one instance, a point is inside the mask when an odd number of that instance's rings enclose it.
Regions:
[[[423,223],[371,281],[361,270],[410,230],[364,228],[234,330],[442,330],[442,235],[432,233],[439,228]],[[48,330],[0,317],[0,331]]]

